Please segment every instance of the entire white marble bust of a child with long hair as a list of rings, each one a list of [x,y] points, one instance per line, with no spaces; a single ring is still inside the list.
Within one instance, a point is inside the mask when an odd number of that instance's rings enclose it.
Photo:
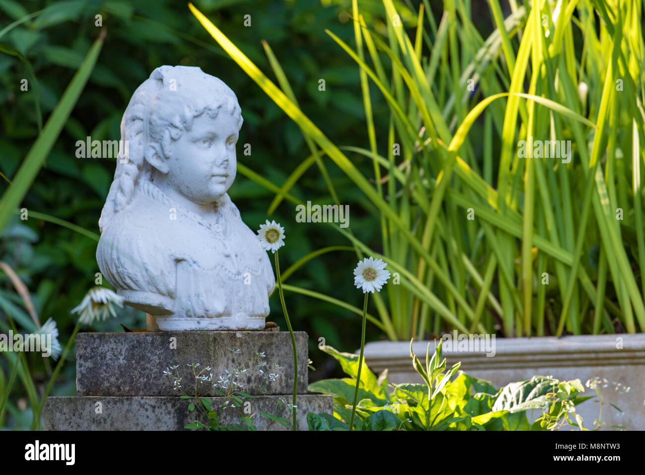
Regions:
[[[187,66],[155,69],[123,114],[96,258],[161,330],[264,328],[275,277],[226,193],[241,125],[233,91]]]

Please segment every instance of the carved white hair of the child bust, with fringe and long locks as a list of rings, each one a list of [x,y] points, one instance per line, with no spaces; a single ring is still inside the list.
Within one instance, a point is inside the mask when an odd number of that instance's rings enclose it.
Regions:
[[[195,79],[197,73],[201,76]],[[213,103],[213,97],[217,102]],[[237,116],[238,130],[241,128],[237,98],[217,77],[188,66],[161,66],[150,74],[135,90],[121,120],[121,148],[99,219],[101,232],[130,203],[139,181],[152,179],[154,168],[145,159],[146,147],[159,144],[167,159],[173,142],[184,130],[191,130],[195,117],[207,114],[214,119],[219,112]]]

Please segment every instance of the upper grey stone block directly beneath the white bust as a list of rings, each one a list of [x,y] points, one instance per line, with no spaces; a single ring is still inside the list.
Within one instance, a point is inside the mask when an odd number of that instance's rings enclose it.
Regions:
[[[304,394],[308,386],[306,332],[295,332],[295,341],[297,392]],[[260,394],[264,387],[266,394],[293,394],[293,349],[288,332],[79,333],[76,351],[79,396],[181,396],[183,392],[174,389],[175,378],[164,375],[166,369],[179,374],[186,394],[194,396],[195,376],[188,366],[193,363],[200,363],[195,374],[210,366],[201,376],[213,375],[212,381],[197,381],[200,396],[219,396],[215,389],[230,386],[236,369],[239,374],[234,380],[240,386],[235,389]],[[220,378],[225,382],[213,387]]]

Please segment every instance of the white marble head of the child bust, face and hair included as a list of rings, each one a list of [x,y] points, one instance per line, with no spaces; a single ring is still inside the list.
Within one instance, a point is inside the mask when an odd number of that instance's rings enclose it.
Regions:
[[[139,181],[178,200],[210,205],[235,179],[242,126],[237,97],[200,68],[161,66],[135,91],[121,121],[119,160],[101,231],[123,210]]]

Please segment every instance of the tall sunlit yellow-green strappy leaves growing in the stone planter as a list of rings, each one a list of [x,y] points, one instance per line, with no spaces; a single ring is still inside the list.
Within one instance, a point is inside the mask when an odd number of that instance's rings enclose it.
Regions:
[[[488,5],[496,29],[486,39],[467,0],[444,2],[439,25],[427,0],[410,25],[383,0],[387,35],[366,25],[354,1],[355,45],[327,32],[357,64],[367,147],[331,143],[299,109],[268,45],[279,87],[190,8],[312,152],[276,187],[270,212],[313,163],[337,202],[325,158],[378,208],[382,254],[370,254],[401,273],[388,303],[377,301],[389,338],[450,327],[506,336],[642,331],[641,2],[511,2],[506,18],[498,0]],[[377,147],[370,88],[390,108],[387,150]],[[481,123],[483,143],[471,134]],[[569,140],[572,157],[521,157],[522,140]],[[359,157],[372,160],[373,176],[353,165]],[[338,230],[357,253],[370,251]]]

